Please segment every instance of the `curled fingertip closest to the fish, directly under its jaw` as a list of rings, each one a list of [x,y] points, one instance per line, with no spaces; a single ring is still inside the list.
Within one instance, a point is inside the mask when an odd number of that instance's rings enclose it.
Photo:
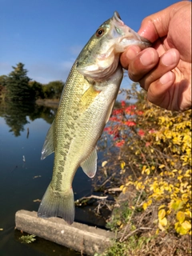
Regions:
[[[128,70],[130,62],[137,56],[137,54],[141,51],[140,47],[138,46],[130,46],[127,47],[124,53],[122,53],[120,57],[120,62],[122,67]]]

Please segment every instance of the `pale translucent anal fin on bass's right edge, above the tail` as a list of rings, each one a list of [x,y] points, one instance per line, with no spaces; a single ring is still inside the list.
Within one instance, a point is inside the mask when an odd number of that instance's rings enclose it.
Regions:
[[[84,173],[90,178],[93,178],[94,175],[96,174],[97,159],[98,159],[97,150],[94,149],[91,152],[91,154],[88,156],[88,158],[86,158],[86,160],[82,162],[80,165]]]

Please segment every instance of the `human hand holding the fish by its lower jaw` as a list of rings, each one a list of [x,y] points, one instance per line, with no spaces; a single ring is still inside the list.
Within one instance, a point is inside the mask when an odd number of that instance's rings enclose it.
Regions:
[[[182,1],[146,17],[138,31],[153,42],[130,46],[120,61],[150,102],[167,110],[191,108],[191,2]]]

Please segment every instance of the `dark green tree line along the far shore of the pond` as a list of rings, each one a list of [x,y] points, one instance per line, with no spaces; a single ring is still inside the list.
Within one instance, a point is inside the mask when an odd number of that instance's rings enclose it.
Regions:
[[[0,76],[0,99],[19,101],[35,101],[38,98],[58,99],[62,94],[62,88],[65,85],[62,81],[53,81],[48,84],[42,84],[32,81],[27,76],[28,70],[24,64],[19,62],[12,66],[13,71],[8,75]]]

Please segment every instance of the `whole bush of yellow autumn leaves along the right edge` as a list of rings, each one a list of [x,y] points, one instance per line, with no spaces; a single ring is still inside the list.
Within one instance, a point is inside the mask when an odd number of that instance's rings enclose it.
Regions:
[[[158,148],[158,158],[154,161],[153,156],[150,159],[146,156],[140,180],[127,182],[122,186],[122,190],[125,191],[130,184],[139,191],[145,190],[147,198],[142,204],[143,210],[151,204],[164,203],[158,210],[159,230],[169,230],[174,226],[178,234],[191,234],[191,169],[188,169],[191,158],[190,123],[182,122],[182,125],[177,125],[174,122],[178,118],[160,117],[158,120],[160,126],[158,130],[156,127],[156,131],[150,137],[154,138],[154,150],[157,150],[156,146],[162,146],[162,150]],[[189,126],[188,130],[186,124]],[[170,126],[177,130],[177,133],[172,131]],[[186,135],[183,134],[183,130]]]

